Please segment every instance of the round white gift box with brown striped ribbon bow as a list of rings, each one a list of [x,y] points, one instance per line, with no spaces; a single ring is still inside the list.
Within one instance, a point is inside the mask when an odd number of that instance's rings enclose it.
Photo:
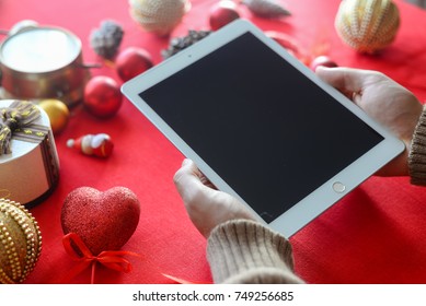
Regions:
[[[30,102],[0,101],[0,198],[32,208],[51,193],[58,179],[47,114]]]

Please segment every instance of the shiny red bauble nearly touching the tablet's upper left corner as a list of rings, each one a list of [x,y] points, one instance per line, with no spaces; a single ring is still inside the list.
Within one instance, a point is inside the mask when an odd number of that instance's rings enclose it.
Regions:
[[[115,60],[118,76],[126,82],[147,71],[153,66],[151,55],[142,49],[129,47],[123,50]]]

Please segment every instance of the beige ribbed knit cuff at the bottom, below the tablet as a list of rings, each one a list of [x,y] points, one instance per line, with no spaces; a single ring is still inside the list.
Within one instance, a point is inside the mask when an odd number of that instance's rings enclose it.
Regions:
[[[300,283],[292,273],[291,245],[249,220],[226,222],[210,234],[207,258],[215,283]]]

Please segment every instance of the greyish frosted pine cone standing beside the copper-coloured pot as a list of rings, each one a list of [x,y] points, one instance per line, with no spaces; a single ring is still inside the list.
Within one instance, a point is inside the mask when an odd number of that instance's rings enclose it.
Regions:
[[[103,21],[99,30],[90,35],[90,45],[101,57],[112,59],[122,44],[124,31],[114,21]]]

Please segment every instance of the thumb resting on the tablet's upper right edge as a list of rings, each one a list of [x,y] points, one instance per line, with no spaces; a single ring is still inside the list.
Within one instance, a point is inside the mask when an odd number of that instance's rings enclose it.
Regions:
[[[362,91],[366,71],[352,68],[325,68],[319,67],[315,73],[320,79],[344,94],[359,93]]]

